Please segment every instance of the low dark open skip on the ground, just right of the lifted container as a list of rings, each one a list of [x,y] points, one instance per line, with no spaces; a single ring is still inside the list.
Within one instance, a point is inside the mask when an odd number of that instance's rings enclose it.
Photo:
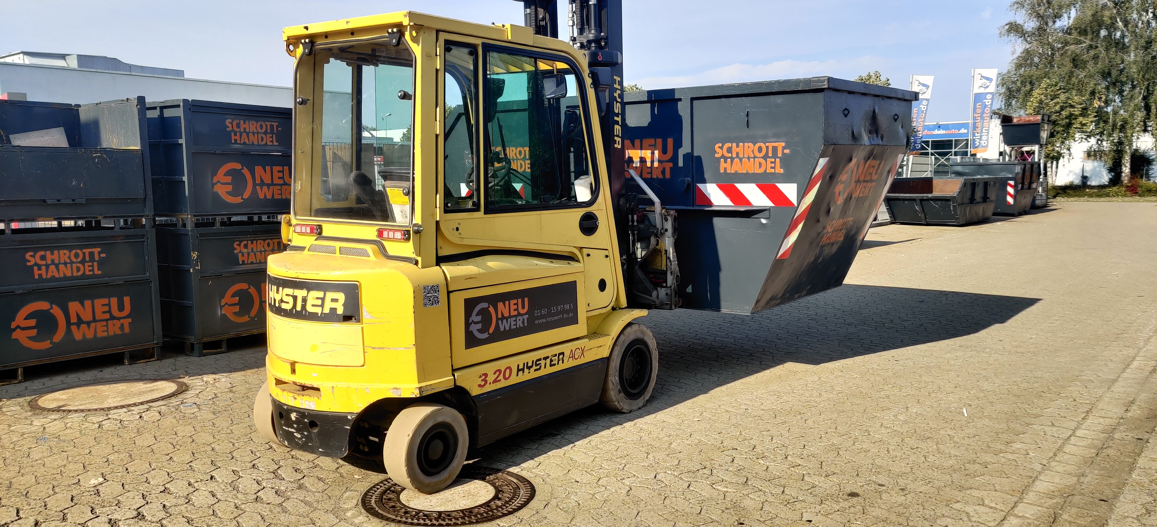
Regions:
[[[887,214],[897,223],[965,225],[993,217],[1000,178],[898,178],[887,190]]]

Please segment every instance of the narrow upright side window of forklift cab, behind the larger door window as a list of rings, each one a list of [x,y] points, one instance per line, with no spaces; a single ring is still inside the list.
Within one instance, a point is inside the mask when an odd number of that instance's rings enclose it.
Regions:
[[[449,43],[442,80],[445,116],[442,148],[447,211],[478,209],[478,51]]]

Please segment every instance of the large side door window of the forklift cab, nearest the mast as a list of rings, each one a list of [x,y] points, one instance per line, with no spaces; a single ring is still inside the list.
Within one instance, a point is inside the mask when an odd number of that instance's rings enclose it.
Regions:
[[[486,211],[590,203],[585,101],[562,60],[486,53]]]

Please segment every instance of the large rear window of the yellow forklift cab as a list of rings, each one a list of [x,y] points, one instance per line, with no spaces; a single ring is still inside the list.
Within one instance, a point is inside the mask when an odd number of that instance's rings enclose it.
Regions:
[[[323,68],[322,163],[309,201],[296,201],[297,215],[408,225],[413,52],[401,39],[397,46],[338,45],[316,53]]]

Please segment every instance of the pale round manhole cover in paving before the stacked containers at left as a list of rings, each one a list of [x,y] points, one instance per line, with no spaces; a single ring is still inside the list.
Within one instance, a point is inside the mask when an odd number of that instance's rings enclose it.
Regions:
[[[126,380],[37,395],[28,406],[46,411],[95,411],[127,408],[171,398],[189,389],[179,380]]]

